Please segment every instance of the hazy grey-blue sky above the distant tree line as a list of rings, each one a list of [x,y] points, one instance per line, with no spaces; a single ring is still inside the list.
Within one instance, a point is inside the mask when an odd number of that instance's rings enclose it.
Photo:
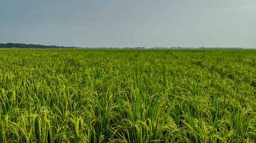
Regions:
[[[2,0],[0,43],[256,48],[255,0]]]

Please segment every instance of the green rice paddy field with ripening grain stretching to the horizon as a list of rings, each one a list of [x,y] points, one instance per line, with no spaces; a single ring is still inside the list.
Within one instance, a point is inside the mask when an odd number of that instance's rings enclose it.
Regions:
[[[256,50],[0,49],[0,142],[256,142]]]

